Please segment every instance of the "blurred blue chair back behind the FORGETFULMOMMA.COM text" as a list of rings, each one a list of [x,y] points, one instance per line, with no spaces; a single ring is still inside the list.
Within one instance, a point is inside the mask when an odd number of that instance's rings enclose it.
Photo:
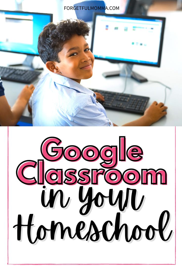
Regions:
[[[85,22],[92,21],[92,16],[94,12],[105,13],[105,2],[104,1],[83,1],[73,5],[74,7],[85,7],[75,10],[77,19],[83,20]],[[90,10],[90,7],[97,7],[96,9]],[[98,9],[98,7],[101,9]],[[102,10],[103,7],[103,10]],[[88,9],[89,8],[89,9]]]

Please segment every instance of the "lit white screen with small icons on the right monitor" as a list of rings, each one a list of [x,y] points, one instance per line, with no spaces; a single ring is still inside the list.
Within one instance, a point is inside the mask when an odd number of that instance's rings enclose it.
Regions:
[[[91,51],[96,59],[160,66],[165,18],[94,14]]]

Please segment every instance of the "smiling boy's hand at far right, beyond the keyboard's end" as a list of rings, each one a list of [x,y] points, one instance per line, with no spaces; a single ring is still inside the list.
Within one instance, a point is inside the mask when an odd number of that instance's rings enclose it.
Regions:
[[[151,121],[151,124],[158,121],[164,115],[167,114],[165,111],[168,107],[164,106],[164,103],[157,103],[154,101],[144,112],[144,116]]]

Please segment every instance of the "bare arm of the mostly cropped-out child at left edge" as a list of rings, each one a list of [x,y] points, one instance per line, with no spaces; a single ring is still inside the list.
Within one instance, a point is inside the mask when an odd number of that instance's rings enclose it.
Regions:
[[[1,126],[14,126],[19,121],[28,100],[34,91],[33,84],[26,85],[19,94],[13,107],[10,108],[5,96],[0,97],[0,124]]]

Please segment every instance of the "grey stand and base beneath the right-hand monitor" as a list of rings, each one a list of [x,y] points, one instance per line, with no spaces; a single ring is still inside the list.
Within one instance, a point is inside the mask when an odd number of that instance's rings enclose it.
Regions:
[[[104,77],[111,77],[111,76],[121,76],[121,77],[129,77],[133,78],[138,82],[147,82],[148,80],[143,76],[139,75],[138,73],[132,71],[133,64],[124,64],[121,70],[111,71],[111,72],[104,72],[102,75]]]

